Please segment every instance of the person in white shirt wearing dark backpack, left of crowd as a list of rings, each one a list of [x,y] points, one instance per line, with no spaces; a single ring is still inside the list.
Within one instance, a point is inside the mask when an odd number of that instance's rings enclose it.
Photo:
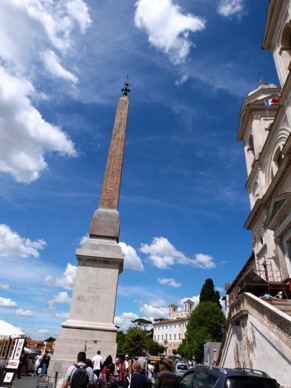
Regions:
[[[69,366],[62,388],[94,387],[93,369],[86,365],[86,353],[79,352],[77,363]]]

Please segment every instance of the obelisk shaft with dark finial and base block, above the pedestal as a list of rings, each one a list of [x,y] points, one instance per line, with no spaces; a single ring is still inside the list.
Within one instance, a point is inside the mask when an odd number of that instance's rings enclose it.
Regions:
[[[129,82],[127,77],[124,88],[122,89],[123,94],[119,98],[117,105],[102,193],[99,207],[95,211],[91,221],[90,237],[105,237],[118,241],[118,203],[129,105],[127,94],[130,90],[128,86]]]

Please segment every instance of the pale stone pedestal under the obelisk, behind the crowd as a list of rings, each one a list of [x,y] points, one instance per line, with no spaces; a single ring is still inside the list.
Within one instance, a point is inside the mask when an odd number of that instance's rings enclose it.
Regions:
[[[65,376],[77,354],[92,358],[101,350],[105,358],[116,355],[114,313],[118,275],[123,270],[123,253],[115,240],[89,238],[77,249],[78,269],[69,319],[62,324],[52,357],[49,376],[61,363],[59,377]]]

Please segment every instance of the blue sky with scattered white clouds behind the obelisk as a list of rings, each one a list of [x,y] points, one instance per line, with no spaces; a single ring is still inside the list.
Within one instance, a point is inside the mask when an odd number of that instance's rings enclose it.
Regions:
[[[131,93],[115,323],[166,317],[249,258],[243,98],[262,76],[268,0],[1,0],[0,317],[57,336]],[[13,22],[12,22],[13,21]]]

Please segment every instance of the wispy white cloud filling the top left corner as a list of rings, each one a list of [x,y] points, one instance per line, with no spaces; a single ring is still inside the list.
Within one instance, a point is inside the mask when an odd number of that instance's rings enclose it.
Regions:
[[[0,56],[21,72],[28,71],[46,48],[68,54],[76,25],[84,33],[91,24],[83,0],[1,0],[0,11]]]

